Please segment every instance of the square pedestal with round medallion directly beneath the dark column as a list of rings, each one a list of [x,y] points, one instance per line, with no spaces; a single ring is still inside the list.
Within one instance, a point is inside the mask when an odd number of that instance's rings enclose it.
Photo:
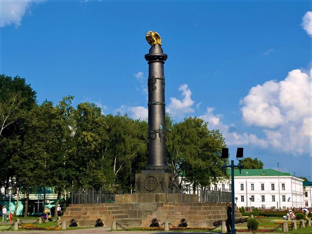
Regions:
[[[135,174],[135,193],[165,193],[172,175],[170,170],[143,170]]]

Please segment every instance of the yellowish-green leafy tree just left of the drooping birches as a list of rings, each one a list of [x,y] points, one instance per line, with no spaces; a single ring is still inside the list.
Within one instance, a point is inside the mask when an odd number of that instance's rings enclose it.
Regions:
[[[76,171],[74,186],[109,188],[113,181],[111,161],[104,155],[108,126],[100,107],[93,103],[80,103],[73,112],[73,118],[71,158]]]

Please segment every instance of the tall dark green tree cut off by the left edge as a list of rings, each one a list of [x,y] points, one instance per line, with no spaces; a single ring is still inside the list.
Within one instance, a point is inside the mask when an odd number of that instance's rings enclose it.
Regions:
[[[0,183],[4,188],[15,183],[12,157],[21,150],[24,116],[36,102],[36,92],[24,78],[0,75]]]

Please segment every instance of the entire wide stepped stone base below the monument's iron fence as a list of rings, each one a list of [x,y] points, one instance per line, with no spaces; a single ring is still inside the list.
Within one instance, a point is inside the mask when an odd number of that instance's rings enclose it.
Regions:
[[[235,208],[235,217],[241,213]],[[225,203],[198,202],[117,202],[98,204],[70,204],[61,217],[67,225],[75,219],[80,227],[94,227],[100,218],[105,227],[116,221],[123,227],[149,227],[152,219],[178,226],[185,218],[189,227],[212,227],[212,222],[227,219]]]

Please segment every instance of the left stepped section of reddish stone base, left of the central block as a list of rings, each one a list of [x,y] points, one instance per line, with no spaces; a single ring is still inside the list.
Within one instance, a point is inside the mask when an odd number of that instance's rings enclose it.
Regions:
[[[80,227],[94,227],[99,218],[109,227],[113,220],[128,219],[129,215],[116,203],[70,204],[61,220],[69,225],[70,220],[75,219]]]

